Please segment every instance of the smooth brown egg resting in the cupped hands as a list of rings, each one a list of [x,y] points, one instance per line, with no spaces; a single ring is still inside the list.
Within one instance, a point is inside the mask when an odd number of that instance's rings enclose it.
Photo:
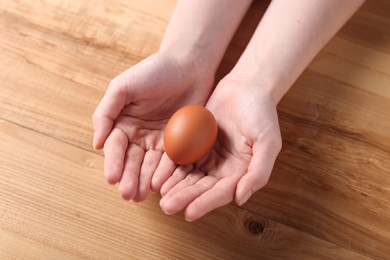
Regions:
[[[165,151],[175,163],[191,164],[210,151],[216,138],[213,114],[203,106],[185,106],[173,114],[165,127]]]

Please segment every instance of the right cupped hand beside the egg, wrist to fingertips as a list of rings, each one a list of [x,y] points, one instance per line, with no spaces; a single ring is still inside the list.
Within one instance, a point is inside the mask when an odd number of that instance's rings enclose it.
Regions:
[[[276,102],[262,87],[229,76],[220,82],[207,103],[219,126],[213,150],[194,167],[155,176],[167,179],[160,201],[165,213],[185,210],[193,221],[233,200],[242,205],[267,183],[281,136]]]

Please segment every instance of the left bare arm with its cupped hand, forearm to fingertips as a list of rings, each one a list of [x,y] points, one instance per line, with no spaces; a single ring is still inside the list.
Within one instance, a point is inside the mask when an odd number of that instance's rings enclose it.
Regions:
[[[172,165],[163,154],[165,125],[182,106],[206,104],[217,66],[249,5],[179,2],[158,53],[109,84],[92,116],[93,145],[104,148],[105,177],[118,184],[124,199],[143,201],[157,166]]]

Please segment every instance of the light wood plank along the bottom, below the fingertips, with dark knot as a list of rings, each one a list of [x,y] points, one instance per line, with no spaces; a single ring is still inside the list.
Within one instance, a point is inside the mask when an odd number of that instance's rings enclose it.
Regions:
[[[0,133],[1,258],[366,259],[230,205],[187,223],[157,195],[123,202],[101,156],[4,120]]]

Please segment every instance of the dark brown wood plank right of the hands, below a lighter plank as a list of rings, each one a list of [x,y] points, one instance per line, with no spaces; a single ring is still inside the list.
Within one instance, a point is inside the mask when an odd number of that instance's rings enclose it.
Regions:
[[[244,208],[372,257],[389,255],[389,104],[307,72],[279,108],[284,142],[271,181]]]

